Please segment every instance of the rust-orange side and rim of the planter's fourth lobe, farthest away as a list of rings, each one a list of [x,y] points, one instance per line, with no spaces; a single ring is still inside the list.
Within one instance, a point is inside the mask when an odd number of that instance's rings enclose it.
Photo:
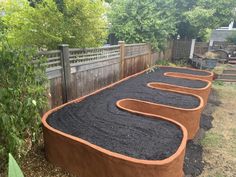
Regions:
[[[164,66],[163,68],[173,68],[173,67],[168,67]],[[174,72],[166,72],[164,75],[165,76],[176,76],[176,77],[182,77],[182,78],[197,78],[197,79],[203,79],[203,80],[208,80],[212,82],[214,73],[206,70],[199,70],[199,69],[193,69],[193,68],[184,68],[184,67],[176,67],[179,69],[179,71],[174,71]],[[190,71],[190,72],[187,72]],[[191,73],[193,72],[198,72],[198,73]]]

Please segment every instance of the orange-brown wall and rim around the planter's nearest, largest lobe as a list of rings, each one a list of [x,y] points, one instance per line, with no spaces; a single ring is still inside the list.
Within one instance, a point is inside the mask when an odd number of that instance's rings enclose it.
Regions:
[[[182,177],[187,142],[186,128],[165,117],[145,114],[154,119],[164,119],[177,125],[183,134],[182,142],[172,156],[164,160],[139,160],[97,145],[79,137],[56,130],[47,124],[47,117],[59,108],[46,113],[42,119],[47,159],[81,177]],[[142,113],[141,113],[142,114]],[[142,114],[144,115],[144,114]]]

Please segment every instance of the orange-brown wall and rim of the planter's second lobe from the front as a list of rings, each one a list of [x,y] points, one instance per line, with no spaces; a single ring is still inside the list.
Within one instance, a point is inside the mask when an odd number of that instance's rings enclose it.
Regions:
[[[173,92],[187,94],[180,91]],[[168,117],[171,120],[177,121],[186,127],[188,131],[188,139],[191,140],[195,137],[199,130],[200,118],[204,104],[201,97],[193,94],[189,95],[196,96],[200,100],[200,105],[198,107],[194,109],[184,109],[129,98],[117,101],[116,105],[120,109],[132,113],[142,113],[144,115],[153,114],[157,116]]]

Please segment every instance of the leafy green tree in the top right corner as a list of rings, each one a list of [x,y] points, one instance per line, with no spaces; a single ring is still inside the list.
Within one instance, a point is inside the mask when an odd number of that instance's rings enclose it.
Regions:
[[[177,34],[182,38],[204,39],[209,29],[228,25],[235,0],[176,0]]]

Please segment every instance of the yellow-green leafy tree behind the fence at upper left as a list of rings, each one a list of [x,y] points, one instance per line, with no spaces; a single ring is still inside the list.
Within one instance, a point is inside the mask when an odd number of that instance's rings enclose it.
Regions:
[[[53,1],[32,8],[25,0],[13,0],[3,3],[2,8],[7,40],[11,45],[50,49],[62,42],[63,16]]]

